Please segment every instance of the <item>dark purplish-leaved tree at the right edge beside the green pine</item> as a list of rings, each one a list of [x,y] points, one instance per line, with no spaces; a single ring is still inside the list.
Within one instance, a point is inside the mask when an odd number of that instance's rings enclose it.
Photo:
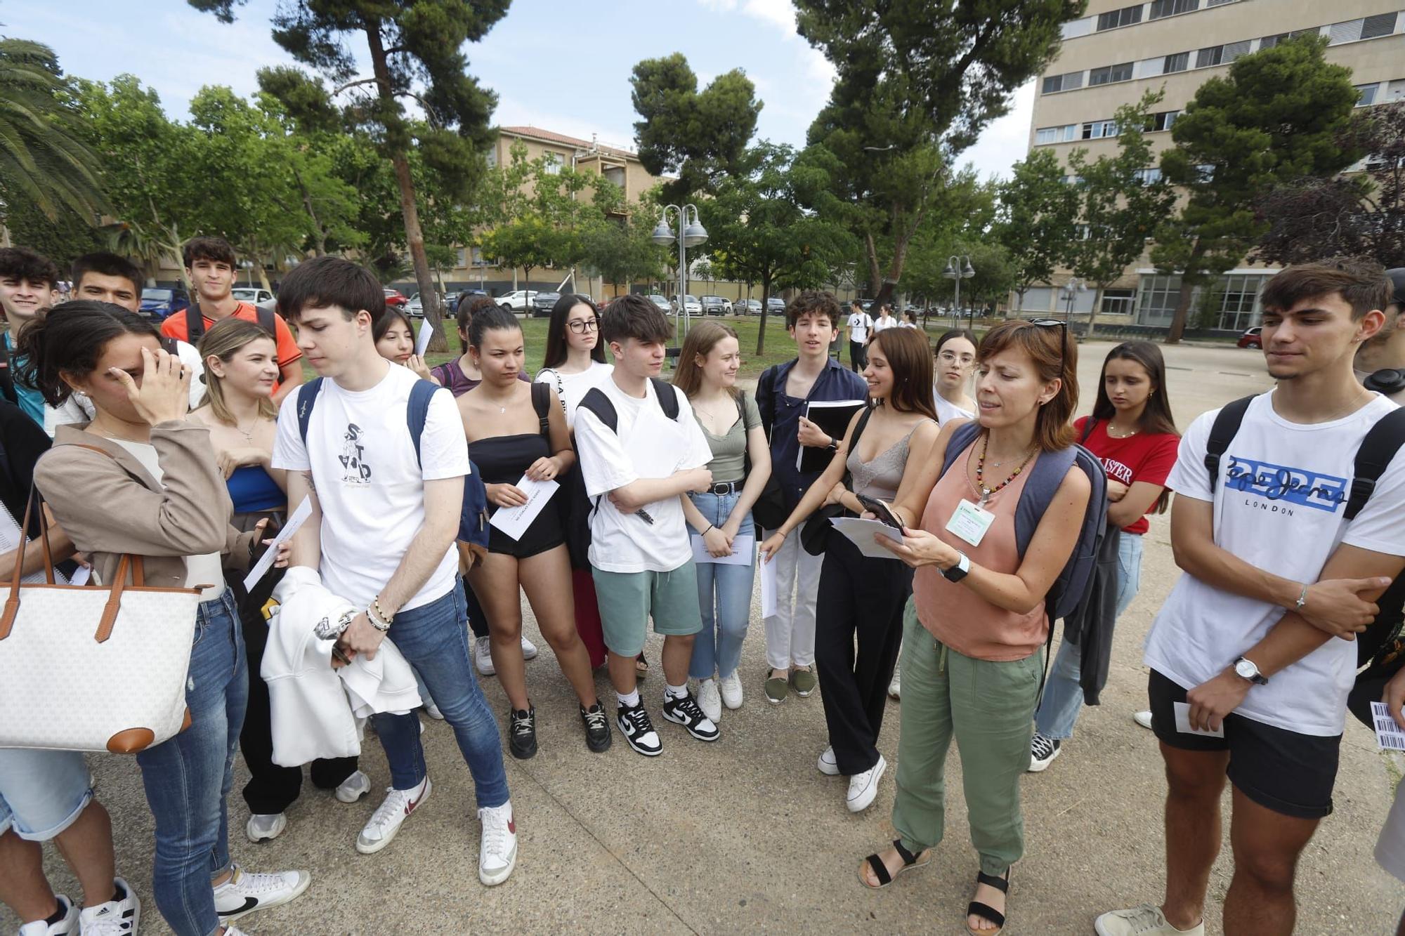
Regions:
[[[1359,174],[1300,178],[1259,201],[1267,232],[1256,259],[1308,263],[1322,257],[1371,257],[1405,267],[1405,103],[1357,111],[1343,149],[1366,153]]]

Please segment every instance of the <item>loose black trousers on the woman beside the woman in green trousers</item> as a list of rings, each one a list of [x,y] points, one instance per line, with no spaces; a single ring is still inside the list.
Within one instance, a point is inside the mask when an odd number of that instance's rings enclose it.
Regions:
[[[815,665],[829,743],[844,776],[878,763],[878,731],[910,594],[906,564],[870,559],[830,531],[819,573]]]

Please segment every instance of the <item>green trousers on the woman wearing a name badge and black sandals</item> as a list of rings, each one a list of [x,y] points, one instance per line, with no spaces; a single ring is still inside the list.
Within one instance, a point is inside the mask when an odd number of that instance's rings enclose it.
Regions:
[[[913,854],[941,842],[943,773],[955,738],[971,845],[981,853],[981,870],[1002,876],[1024,854],[1020,777],[1030,766],[1044,651],[1003,663],[964,656],[922,625],[913,599],[908,599],[902,630],[894,828]]]

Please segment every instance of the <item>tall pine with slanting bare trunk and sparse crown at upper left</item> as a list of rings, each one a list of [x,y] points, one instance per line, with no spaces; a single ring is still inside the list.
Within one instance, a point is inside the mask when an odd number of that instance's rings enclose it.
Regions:
[[[233,22],[233,8],[244,0],[188,0],[197,10]],[[405,222],[405,242],[414,266],[414,281],[424,302],[424,318],[443,350],[443,318],[438,292],[424,252],[424,232],[410,174],[409,153],[416,149],[448,187],[445,198],[468,201],[485,167],[482,152],[492,141],[489,119],[496,96],[479,87],[459,51],[482,39],[507,13],[509,0],[288,0],[273,17],[273,38],[294,59],[316,69],[333,83],[295,69],[260,73],[260,87],[273,93],[294,114],[320,115],[323,125],[340,117],[365,145],[375,146],[395,171]],[[357,63],[347,46],[351,37],[365,41],[371,76],[355,77]],[[339,110],[334,101],[346,100]],[[412,124],[405,100],[424,112]]]

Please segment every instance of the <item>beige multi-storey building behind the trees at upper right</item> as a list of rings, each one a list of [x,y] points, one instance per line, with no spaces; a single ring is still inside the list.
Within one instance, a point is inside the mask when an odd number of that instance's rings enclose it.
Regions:
[[[1328,37],[1329,62],[1353,72],[1359,107],[1405,100],[1405,0],[1090,0],[1087,15],[1064,25],[1064,44],[1035,87],[1030,149],[1051,148],[1061,160],[1078,148],[1092,157],[1116,150],[1113,114],[1123,104],[1161,89],[1148,134],[1159,150],[1201,82],[1224,74],[1231,62],[1288,37]],[[1161,170],[1148,167],[1148,176]],[[1208,312],[1208,325],[1242,330],[1259,322],[1259,290],[1273,267],[1243,264],[1227,273],[1191,308]],[[1065,312],[1061,290],[1030,290],[1026,315]],[[1099,320],[1165,326],[1180,298],[1180,277],[1162,275],[1146,256],[1106,291]],[[1072,311],[1092,311],[1093,291],[1076,294]]]

